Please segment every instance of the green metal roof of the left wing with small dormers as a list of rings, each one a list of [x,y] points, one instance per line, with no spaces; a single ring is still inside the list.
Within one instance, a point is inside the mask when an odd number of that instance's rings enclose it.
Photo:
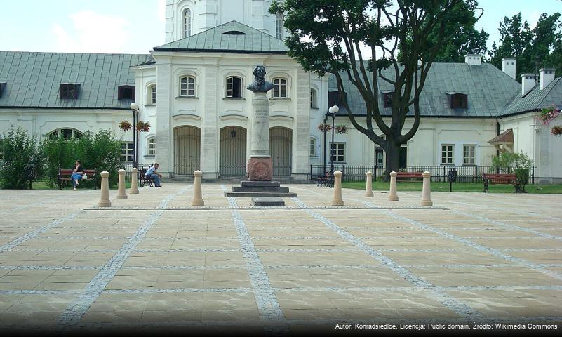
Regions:
[[[133,67],[151,55],[0,51],[2,107],[128,109],[117,88],[135,85]],[[60,84],[80,84],[77,99],[60,99]]]

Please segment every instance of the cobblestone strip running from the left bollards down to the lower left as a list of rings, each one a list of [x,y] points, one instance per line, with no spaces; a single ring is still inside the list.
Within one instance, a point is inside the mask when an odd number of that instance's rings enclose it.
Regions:
[[[166,199],[161,201],[159,207],[166,207],[168,203],[176,196],[183,194],[187,188],[191,187],[192,185],[188,185],[183,187],[181,190],[176,192],[175,194],[170,194]],[[146,220],[145,224],[139,227],[139,229],[135,232],[133,237],[128,240],[121,249],[115,253],[115,255],[107,261],[105,266],[98,272],[93,279],[88,283],[86,289],[72,302],[70,303],[64,312],[58,317],[58,324],[62,326],[74,326],[79,323],[80,319],[88,309],[90,305],[95,302],[96,299],[100,296],[102,291],[105,289],[107,284],[111,282],[113,277],[116,275],[117,272],[121,269],[127,258],[133,252],[133,249],[145,238],[147,232],[150,230],[152,225],[160,218],[163,214],[163,211],[157,211],[156,213],[152,213],[151,216]]]

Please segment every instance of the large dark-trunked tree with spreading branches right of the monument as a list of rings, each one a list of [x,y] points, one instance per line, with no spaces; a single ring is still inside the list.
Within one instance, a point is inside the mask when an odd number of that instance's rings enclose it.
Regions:
[[[353,126],[386,152],[385,176],[388,176],[389,171],[399,169],[400,145],[413,138],[420,126],[420,93],[440,47],[457,34],[459,25],[474,20],[472,13],[458,8],[472,3],[471,0],[397,0],[395,4],[390,0],[285,0],[274,1],[269,11],[283,13],[289,32],[288,55],[306,71],[319,76],[333,74],[340,101]],[[363,55],[362,46],[369,49],[370,57]],[[382,75],[382,70],[388,67],[394,70],[393,77]],[[347,103],[342,76],[349,78],[365,103],[364,126]],[[379,110],[377,78],[394,86],[389,123]],[[403,133],[406,117],[413,117],[413,126]],[[379,136],[375,127],[385,137]]]

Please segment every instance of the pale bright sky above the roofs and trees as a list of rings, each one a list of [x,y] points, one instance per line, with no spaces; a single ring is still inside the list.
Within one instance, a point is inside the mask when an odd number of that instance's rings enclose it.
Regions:
[[[219,0],[228,4],[229,0]],[[166,0],[2,0],[1,51],[148,53],[164,44]],[[499,39],[504,16],[521,12],[535,27],[542,12],[562,13],[560,0],[480,0],[476,28]]]

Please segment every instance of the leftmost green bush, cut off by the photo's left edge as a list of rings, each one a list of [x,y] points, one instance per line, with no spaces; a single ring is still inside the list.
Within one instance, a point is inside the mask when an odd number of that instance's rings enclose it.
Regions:
[[[27,188],[27,171],[25,166],[35,165],[41,169],[42,157],[37,148],[36,136],[29,136],[27,131],[11,126],[0,138],[2,159],[0,159],[0,187],[11,189]]]

